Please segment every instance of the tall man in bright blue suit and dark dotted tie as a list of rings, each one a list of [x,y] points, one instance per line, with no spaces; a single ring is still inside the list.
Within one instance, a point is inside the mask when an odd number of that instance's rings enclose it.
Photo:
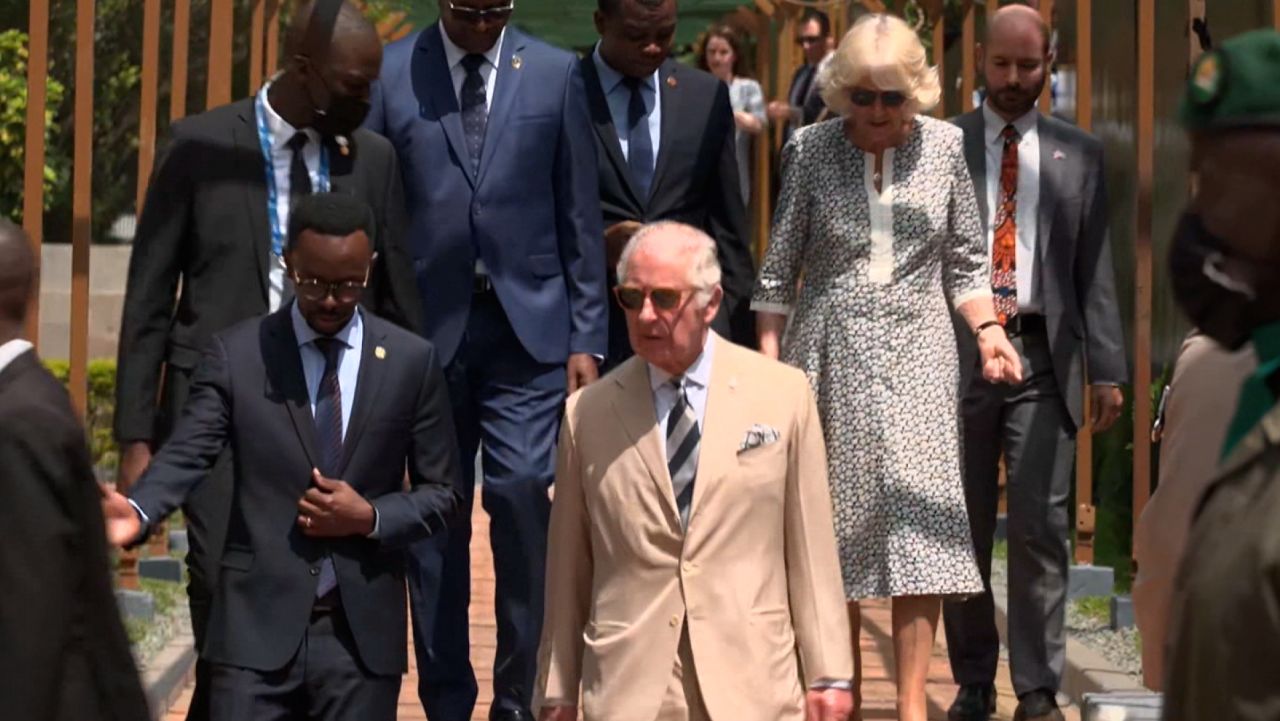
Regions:
[[[608,339],[595,149],[576,59],[507,27],[509,0],[439,0],[440,22],[385,49],[367,127],[396,147],[426,337],[445,362],[462,458],[483,448],[497,575],[493,720],[531,718],[566,391]],[[413,549],[410,584],[431,721],[471,718],[470,508]]]

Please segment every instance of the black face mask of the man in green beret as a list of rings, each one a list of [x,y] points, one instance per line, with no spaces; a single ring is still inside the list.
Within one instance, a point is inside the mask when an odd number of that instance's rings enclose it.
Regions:
[[[1174,300],[1206,336],[1234,351],[1272,319],[1258,304],[1256,291],[1270,287],[1260,282],[1262,274],[1242,279],[1228,270],[1229,260],[1222,238],[1210,233],[1199,215],[1184,213],[1169,251]]]

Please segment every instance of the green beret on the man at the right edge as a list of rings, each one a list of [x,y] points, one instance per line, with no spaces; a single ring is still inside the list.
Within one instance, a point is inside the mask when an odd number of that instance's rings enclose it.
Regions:
[[[1188,131],[1280,127],[1280,33],[1256,29],[1201,55],[1179,117]]]

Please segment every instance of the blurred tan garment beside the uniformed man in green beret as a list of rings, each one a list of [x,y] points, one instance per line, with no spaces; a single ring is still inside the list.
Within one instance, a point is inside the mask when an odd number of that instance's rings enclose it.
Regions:
[[[1142,634],[1143,684],[1162,688],[1174,576],[1187,548],[1196,505],[1217,474],[1239,388],[1258,366],[1253,346],[1231,352],[1212,338],[1183,342],[1165,401],[1160,483],[1138,519],[1133,608]]]

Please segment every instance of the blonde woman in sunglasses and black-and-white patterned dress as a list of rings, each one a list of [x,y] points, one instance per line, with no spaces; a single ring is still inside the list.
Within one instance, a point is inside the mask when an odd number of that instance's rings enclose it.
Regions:
[[[992,307],[961,131],[918,114],[941,96],[919,38],[864,17],[819,82],[841,118],[783,150],[751,305],[762,352],[803,369],[818,398],[854,652],[858,601],[891,597],[899,717],[924,721],[941,599],[982,590],[951,309],[978,336],[988,380],[1019,380],[1021,365]]]

